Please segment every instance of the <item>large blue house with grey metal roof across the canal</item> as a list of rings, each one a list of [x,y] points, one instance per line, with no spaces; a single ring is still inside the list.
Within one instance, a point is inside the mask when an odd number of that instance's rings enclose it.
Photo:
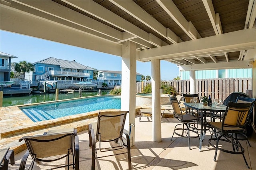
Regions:
[[[34,72],[26,75],[25,79],[32,81],[49,80],[77,80],[85,81],[92,79],[93,71],[91,67],[77,63],[75,60],[68,61],[49,57],[41,61],[32,63],[35,67]],[[32,79],[31,77],[32,76]]]

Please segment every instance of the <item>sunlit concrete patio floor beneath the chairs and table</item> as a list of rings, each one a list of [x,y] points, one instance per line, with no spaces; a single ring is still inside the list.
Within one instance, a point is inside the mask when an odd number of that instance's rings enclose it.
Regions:
[[[247,169],[244,159],[241,154],[228,154],[218,151],[217,161],[214,162],[215,150],[208,145],[210,132],[207,131],[206,138],[202,144],[202,152],[199,152],[199,139],[191,139],[191,150],[188,149],[188,140],[174,135],[171,141],[171,136],[175,125],[178,121],[175,118],[162,118],[162,142],[152,141],[152,121],[149,117],[142,117],[142,122],[136,117],[135,130],[135,145],[131,148],[132,169],[143,170],[218,170],[232,169],[242,170]],[[80,170],[91,169],[91,148],[88,146],[88,132],[82,131],[78,133],[80,144]],[[250,166],[250,169],[256,169],[256,134],[250,137],[248,146],[246,141],[241,141],[245,149],[245,157]],[[225,147],[220,144],[221,147]],[[15,164],[9,165],[10,170],[18,169],[22,156],[26,151],[22,151],[15,155]],[[96,160],[96,169],[101,170],[126,170],[128,169],[126,154],[118,156],[110,156]],[[29,157],[28,162],[31,161]],[[49,165],[55,166],[61,164],[65,160],[57,162],[39,162],[34,165],[35,170],[44,170],[50,168]],[[60,168],[64,169],[64,168]]]

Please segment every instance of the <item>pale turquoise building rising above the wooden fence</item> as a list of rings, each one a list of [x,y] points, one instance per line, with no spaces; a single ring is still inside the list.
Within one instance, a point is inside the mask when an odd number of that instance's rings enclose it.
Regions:
[[[189,79],[189,71],[180,71],[182,80]],[[220,69],[220,70],[197,70],[196,79],[217,78],[248,78],[252,77],[252,68],[249,69]]]

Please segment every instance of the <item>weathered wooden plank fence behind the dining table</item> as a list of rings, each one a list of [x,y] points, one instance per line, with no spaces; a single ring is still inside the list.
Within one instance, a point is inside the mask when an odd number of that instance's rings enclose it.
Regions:
[[[173,86],[180,95],[190,93],[189,80],[170,80],[165,82]],[[136,93],[142,93],[142,83],[143,87],[145,87],[151,84],[151,81],[136,83]],[[224,101],[230,93],[235,91],[246,93],[251,97],[252,78],[196,79],[196,93],[199,96],[211,95],[212,99],[222,97]]]

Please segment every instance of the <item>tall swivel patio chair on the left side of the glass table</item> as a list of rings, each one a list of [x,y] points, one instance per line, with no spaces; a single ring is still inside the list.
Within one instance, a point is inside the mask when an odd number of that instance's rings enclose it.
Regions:
[[[193,115],[188,114],[187,112],[184,112],[178,103],[178,100],[175,96],[170,97],[170,101],[174,110],[174,117],[178,119],[181,124],[178,124],[174,127],[174,131],[172,134],[172,138],[174,133],[178,136],[181,136],[183,138],[188,138],[188,148],[190,148],[190,138],[199,138],[199,134],[197,131],[197,128],[195,124],[198,124],[198,118],[194,117]],[[192,125],[194,124],[194,125]],[[178,128],[178,126],[182,125],[182,128]],[[181,131],[181,133],[180,133]],[[190,132],[194,132],[195,136],[190,136]],[[172,140],[171,138],[171,140]]]

